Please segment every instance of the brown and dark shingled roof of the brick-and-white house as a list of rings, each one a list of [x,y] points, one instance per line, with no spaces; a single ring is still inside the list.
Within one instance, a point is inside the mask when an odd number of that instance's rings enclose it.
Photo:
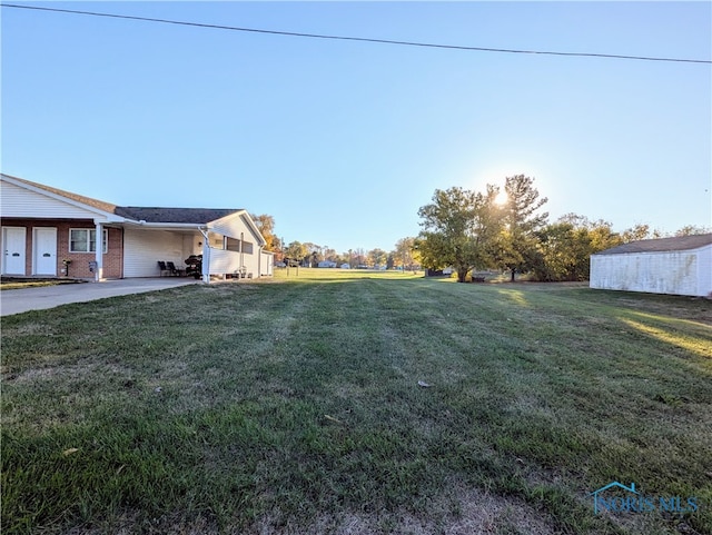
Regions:
[[[110,202],[105,202],[103,200],[85,197],[83,195],[65,191],[63,189],[52,188],[51,186],[46,186],[43,184],[32,182],[31,180],[26,180],[23,178],[12,177],[4,174],[2,174],[2,177],[17,180],[18,182],[30,186],[30,188],[41,189],[56,196],[65,197],[76,202],[81,202],[82,205],[98,208],[99,210],[134,221],[205,225],[206,222],[215,221],[216,219],[229,216],[230,214],[244,211],[239,208],[159,208],[117,206]]]

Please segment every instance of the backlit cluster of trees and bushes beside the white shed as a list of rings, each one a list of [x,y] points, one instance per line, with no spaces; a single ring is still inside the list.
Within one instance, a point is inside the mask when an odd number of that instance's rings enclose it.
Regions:
[[[506,177],[504,198],[497,186],[484,191],[459,187],[436,189],[432,202],[421,207],[423,230],[414,241],[424,267],[453,267],[464,283],[477,270],[531,274],[535,280],[587,280],[591,255],[629,241],[660,238],[649,225],[614,232],[612,224],[567,214],[548,222],[541,211],[534,180],[524,175]],[[675,235],[704,234],[709,228],[686,226]]]

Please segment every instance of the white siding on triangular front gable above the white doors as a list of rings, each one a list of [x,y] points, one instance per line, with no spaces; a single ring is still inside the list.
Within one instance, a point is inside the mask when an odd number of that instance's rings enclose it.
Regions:
[[[44,219],[92,219],[105,221],[107,218],[95,211],[85,210],[69,202],[20,188],[4,180],[0,181],[0,212],[2,217]]]

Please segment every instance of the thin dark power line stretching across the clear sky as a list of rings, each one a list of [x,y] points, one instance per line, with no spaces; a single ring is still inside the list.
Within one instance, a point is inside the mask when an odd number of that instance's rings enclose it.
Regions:
[[[469,51],[477,51],[477,52],[531,53],[531,55],[542,55],[542,56],[572,56],[572,57],[583,57],[583,58],[630,59],[630,60],[640,60],[640,61],[669,61],[669,62],[676,62],[676,63],[712,65],[712,60],[704,60],[704,59],[655,58],[655,57],[647,57],[647,56],[624,56],[624,55],[613,55],[613,53],[554,52],[554,51],[545,51],[545,50],[518,50],[518,49],[506,49],[506,48],[463,47],[457,44],[437,44],[437,43],[416,42],[416,41],[395,41],[390,39],[370,39],[366,37],[326,36],[320,33],[300,33],[295,31],[277,31],[277,30],[263,30],[263,29],[256,29],[256,28],[239,28],[234,26],[205,24],[200,22],[186,22],[180,20],[155,19],[150,17],[134,17],[128,14],[98,13],[95,11],[77,11],[72,9],[40,8],[37,6],[18,6],[14,3],[2,3],[0,6],[3,8],[32,9],[38,11],[53,11],[58,13],[87,14],[91,17],[108,17],[112,19],[140,20],[145,22],[160,22],[164,24],[191,26],[197,28],[210,28],[215,30],[245,31],[245,32],[253,32],[253,33],[267,33],[273,36],[303,37],[303,38],[309,38],[309,39],[330,39],[330,40],[342,40],[342,41],[375,42],[380,44],[399,44],[405,47],[469,50]]]

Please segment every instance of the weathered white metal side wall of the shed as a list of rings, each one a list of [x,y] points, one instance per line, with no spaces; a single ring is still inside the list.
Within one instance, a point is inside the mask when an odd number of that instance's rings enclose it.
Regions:
[[[712,246],[684,251],[593,255],[590,286],[706,296],[712,291]]]

